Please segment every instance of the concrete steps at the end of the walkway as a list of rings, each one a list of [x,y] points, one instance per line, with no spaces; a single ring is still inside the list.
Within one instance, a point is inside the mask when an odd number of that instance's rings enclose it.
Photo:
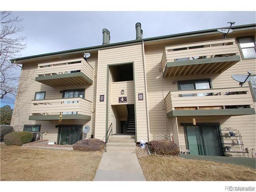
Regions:
[[[135,135],[110,135],[107,143],[108,151],[131,151],[135,150]]]

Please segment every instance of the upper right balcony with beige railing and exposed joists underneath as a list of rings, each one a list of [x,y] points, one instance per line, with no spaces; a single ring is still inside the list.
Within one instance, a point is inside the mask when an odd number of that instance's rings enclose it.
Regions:
[[[222,73],[238,61],[235,39],[166,46],[162,56],[164,78]]]

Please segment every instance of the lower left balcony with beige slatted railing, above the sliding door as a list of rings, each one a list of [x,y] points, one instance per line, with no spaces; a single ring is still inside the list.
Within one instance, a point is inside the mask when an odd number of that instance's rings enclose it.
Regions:
[[[84,98],[32,100],[29,120],[90,120],[92,102]]]

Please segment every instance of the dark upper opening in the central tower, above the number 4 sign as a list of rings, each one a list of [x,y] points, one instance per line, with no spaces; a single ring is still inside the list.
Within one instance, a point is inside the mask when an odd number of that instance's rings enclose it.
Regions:
[[[109,67],[112,81],[133,81],[133,64],[121,64]]]

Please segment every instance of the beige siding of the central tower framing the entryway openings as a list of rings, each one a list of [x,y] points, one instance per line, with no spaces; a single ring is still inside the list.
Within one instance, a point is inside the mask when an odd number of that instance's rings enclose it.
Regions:
[[[100,97],[104,94],[106,97],[106,76],[107,65],[110,64],[122,64],[134,62],[134,83],[135,83],[135,101],[136,101],[136,134],[137,140],[143,139],[148,141],[147,132],[147,116],[146,116],[146,98],[143,101],[138,101],[138,93],[145,95],[145,82],[144,82],[144,68],[143,68],[143,54],[142,45],[132,45],[119,48],[110,48],[106,50],[99,50],[98,53],[98,83],[97,83],[97,95]],[[111,75],[111,74],[110,74]],[[109,76],[110,76],[109,75]],[[111,116],[111,79],[109,79],[109,114],[108,114],[108,126],[110,125]],[[111,94],[110,94],[111,93]],[[104,102],[96,102],[96,138],[104,139],[106,134],[106,100]]]

